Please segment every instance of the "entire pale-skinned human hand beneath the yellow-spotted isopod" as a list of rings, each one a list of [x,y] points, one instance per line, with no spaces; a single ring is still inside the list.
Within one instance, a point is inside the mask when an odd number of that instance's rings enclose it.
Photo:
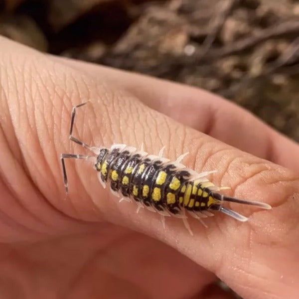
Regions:
[[[3,298],[298,298],[299,146],[237,106],[199,89],[52,57],[0,39],[0,294]],[[103,189],[88,161],[60,154],[125,143],[230,186],[272,210],[228,204],[208,229]],[[243,150],[243,151],[242,151]],[[88,152],[90,154],[90,152]]]

